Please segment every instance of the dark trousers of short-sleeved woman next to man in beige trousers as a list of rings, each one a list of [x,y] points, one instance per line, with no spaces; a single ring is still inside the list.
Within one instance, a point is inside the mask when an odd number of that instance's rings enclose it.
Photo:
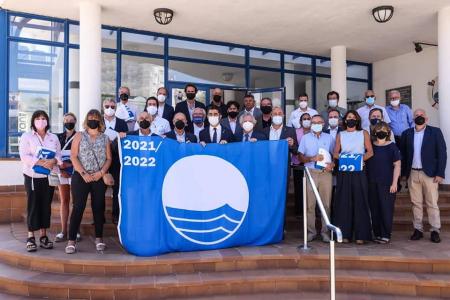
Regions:
[[[395,196],[389,192],[390,186],[369,183],[369,205],[372,215],[372,228],[375,237],[391,238],[394,219]]]

